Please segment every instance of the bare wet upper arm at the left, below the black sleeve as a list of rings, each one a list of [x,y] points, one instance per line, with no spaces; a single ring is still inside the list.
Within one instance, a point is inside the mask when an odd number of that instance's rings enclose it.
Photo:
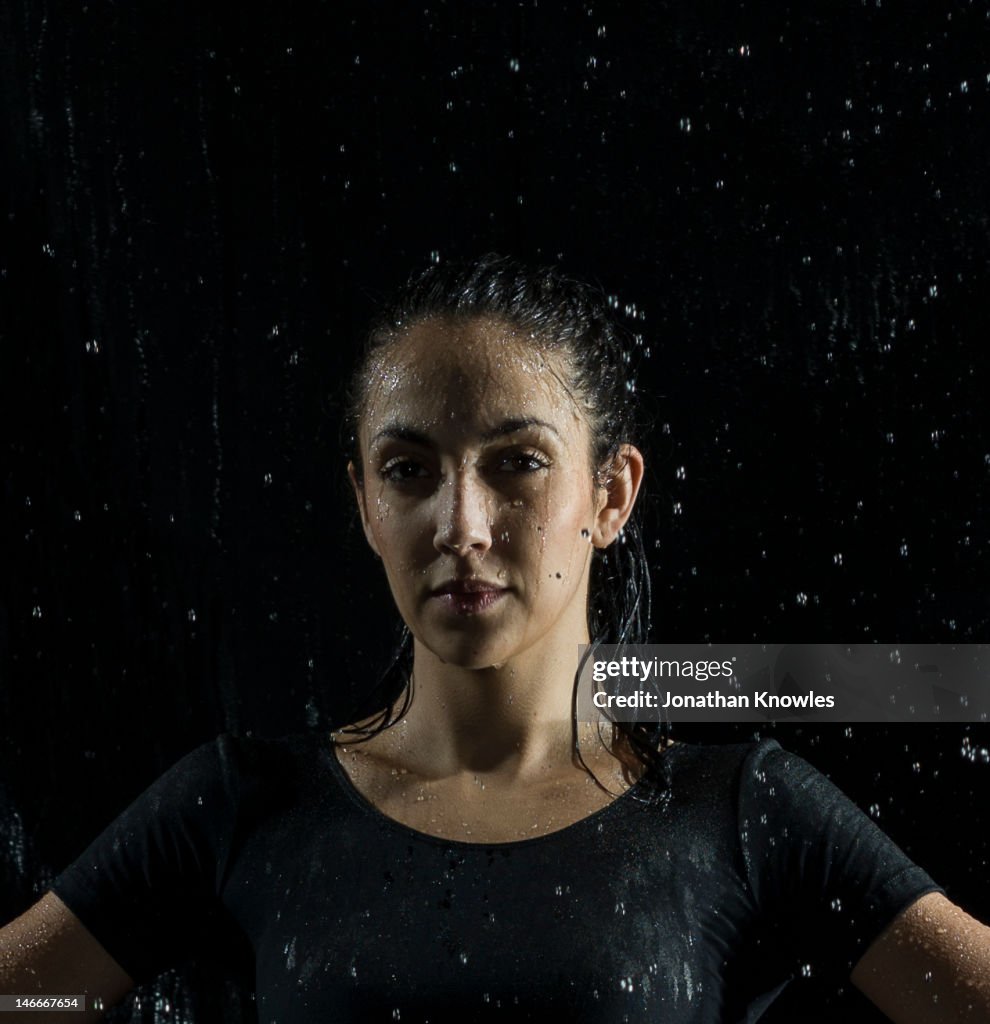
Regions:
[[[98,1021],[134,987],[123,968],[52,892],[0,929],[0,992],[10,995],[86,995],[74,1021]],[[96,1000],[102,1009],[90,1009]],[[99,1004],[97,1004],[99,1005]],[[61,1021],[64,1012],[33,1011],[33,1021]]]

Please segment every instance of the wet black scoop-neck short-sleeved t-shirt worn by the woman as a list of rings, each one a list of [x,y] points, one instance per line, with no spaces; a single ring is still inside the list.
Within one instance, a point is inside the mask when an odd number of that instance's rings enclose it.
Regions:
[[[938,891],[774,740],[664,756],[665,805],[640,782],[560,831],[480,844],[387,818],[326,736],[224,734],[53,889],[137,981],[223,920],[262,1024],[748,1022],[797,973],[845,978]]]

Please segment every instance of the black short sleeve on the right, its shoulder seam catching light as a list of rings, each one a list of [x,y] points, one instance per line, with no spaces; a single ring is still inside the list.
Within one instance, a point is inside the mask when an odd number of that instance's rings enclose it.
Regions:
[[[760,915],[794,963],[847,976],[903,909],[943,892],[842,791],[772,739],[743,763],[739,835]]]

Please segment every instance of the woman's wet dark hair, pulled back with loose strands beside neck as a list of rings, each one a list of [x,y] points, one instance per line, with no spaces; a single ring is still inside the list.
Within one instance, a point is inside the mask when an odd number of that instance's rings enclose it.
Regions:
[[[375,317],[347,396],[348,443],[358,479],[358,426],[385,350],[424,321],[476,318],[501,321],[530,337],[542,351],[562,356],[562,383],[585,413],[592,470],[604,482],[620,458],[620,445],[634,442],[644,426],[633,368],[636,339],[619,324],[600,289],[555,267],[530,267],[496,254],[434,263],[414,273]],[[639,514],[634,509],[619,537],[595,552],[588,609],[592,650],[601,643],[647,642],[650,577]],[[412,668],[412,636],[403,629],[391,664],[370,695],[377,714],[360,729],[348,729],[349,736],[368,738],[405,714],[413,698]],[[573,703],[576,707],[576,678]],[[574,754],[584,765],[576,720],[572,726]],[[627,764],[630,758],[639,761],[646,777],[665,793],[669,776],[661,755],[670,742],[666,723],[623,722],[612,728],[612,753]]]

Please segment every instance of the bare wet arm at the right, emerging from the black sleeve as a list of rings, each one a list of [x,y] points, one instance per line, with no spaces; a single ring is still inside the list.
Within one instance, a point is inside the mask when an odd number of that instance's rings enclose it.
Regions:
[[[990,928],[929,893],[872,943],[852,981],[895,1024],[990,1021]]]

